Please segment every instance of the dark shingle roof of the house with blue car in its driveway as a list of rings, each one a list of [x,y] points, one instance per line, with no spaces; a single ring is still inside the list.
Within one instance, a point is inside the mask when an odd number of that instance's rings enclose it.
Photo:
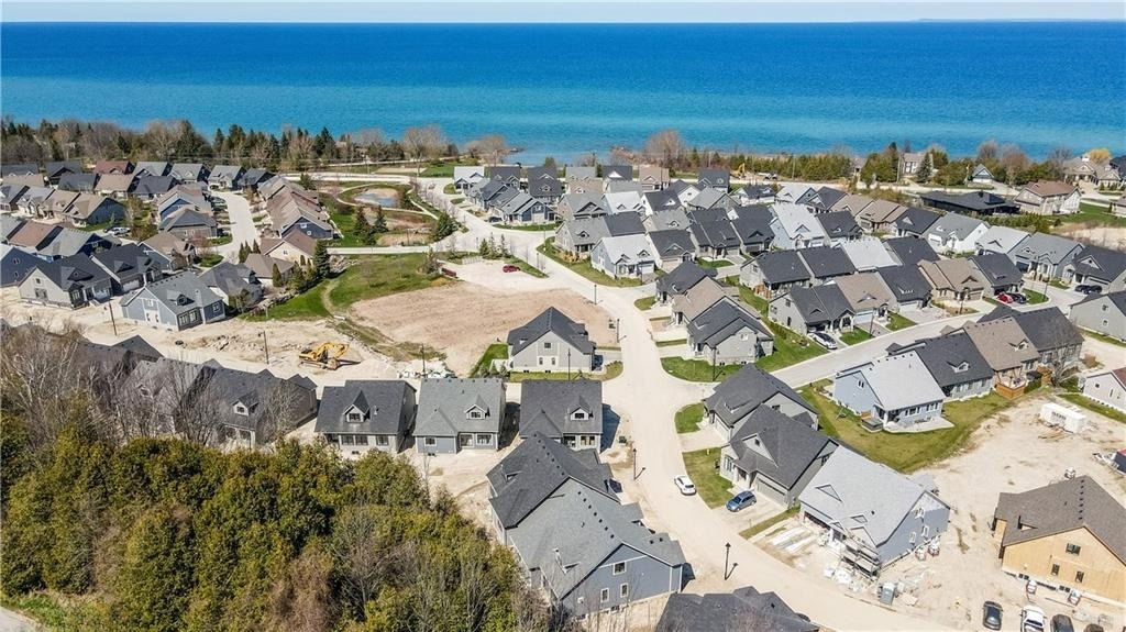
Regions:
[[[787,490],[828,443],[835,442],[808,424],[765,406],[740,422],[731,436],[740,469],[758,472]]]

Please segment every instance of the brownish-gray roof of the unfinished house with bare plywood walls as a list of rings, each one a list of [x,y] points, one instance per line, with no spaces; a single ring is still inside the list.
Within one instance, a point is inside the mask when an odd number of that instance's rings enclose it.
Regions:
[[[1126,508],[1089,476],[1001,494],[993,516],[1006,521],[1002,547],[1087,529],[1126,563]]]

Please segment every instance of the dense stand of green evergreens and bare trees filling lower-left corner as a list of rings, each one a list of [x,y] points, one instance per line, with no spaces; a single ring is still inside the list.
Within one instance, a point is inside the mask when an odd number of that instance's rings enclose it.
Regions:
[[[11,331],[0,385],[0,586],[9,596],[81,596],[69,628],[571,625],[548,615],[511,554],[461,516],[448,494],[431,500],[405,460],[373,452],[350,462],[327,445],[287,441],[223,452],[157,432],[123,433],[100,409],[96,370],[11,370],[50,351],[12,342]],[[55,396],[33,405],[32,395],[52,387]]]

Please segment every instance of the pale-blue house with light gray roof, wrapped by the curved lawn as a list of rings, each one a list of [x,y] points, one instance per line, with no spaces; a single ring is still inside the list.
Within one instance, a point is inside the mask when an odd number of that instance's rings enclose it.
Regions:
[[[919,354],[906,351],[838,371],[833,400],[869,428],[910,428],[939,418],[946,394]]]

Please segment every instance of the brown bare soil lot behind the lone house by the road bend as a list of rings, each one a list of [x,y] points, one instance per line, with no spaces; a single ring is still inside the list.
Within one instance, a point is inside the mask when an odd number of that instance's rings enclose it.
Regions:
[[[441,351],[446,365],[464,376],[489,344],[548,307],[584,323],[596,343],[613,344],[609,315],[564,289],[513,294],[463,282],[357,303],[349,317],[395,341]]]

